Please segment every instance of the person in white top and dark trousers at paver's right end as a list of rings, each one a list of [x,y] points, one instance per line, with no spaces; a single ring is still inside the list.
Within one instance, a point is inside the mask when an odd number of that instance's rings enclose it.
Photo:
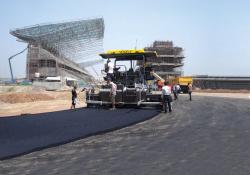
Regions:
[[[168,81],[165,81],[164,86],[162,87],[162,105],[165,113],[167,112],[167,106],[169,112],[172,112],[171,102],[172,102],[171,87],[169,86]]]

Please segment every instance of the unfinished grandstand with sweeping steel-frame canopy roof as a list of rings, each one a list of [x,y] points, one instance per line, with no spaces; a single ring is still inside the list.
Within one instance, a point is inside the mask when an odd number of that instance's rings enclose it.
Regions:
[[[11,30],[28,43],[26,76],[33,81],[47,77],[69,77],[90,81],[85,69],[99,63],[103,50],[102,18],[42,24]]]

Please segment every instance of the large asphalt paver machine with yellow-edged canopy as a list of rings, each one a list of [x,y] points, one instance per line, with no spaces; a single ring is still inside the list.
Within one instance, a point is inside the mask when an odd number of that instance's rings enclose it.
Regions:
[[[107,61],[107,64],[110,61],[113,64],[112,81],[117,85],[116,105],[161,106],[161,94],[154,93],[151,85],[148,84],[155,77],[152,76],[152,67],[146,64],[148,58],[157,56],[156,52],[110,50],[100,54],[100,56]],[[87,106],[111,105],[109,94],[110,86],[106,84],[101,86],[98,93],[87,93]]]

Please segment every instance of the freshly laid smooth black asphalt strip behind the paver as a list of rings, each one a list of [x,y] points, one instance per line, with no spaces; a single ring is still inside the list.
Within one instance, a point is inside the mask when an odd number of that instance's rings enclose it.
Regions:
[[[34,109],[35,110],[35,109]],[[120,129],[154,117],[146,109],[77,109],[0,118],[0,160]]]

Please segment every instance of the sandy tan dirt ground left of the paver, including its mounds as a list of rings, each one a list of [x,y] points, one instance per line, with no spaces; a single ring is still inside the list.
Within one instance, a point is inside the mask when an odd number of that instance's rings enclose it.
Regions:
[[[76,107],[86,106],[84,92],[78,92]],[[0,117],[70,109],[71,91],[0,93]]]

